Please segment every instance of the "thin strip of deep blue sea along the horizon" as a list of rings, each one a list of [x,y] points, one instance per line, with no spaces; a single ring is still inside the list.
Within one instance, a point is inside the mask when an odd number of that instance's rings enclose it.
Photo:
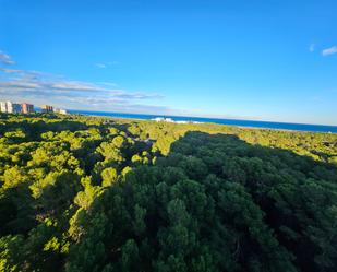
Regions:
[[[214,123],[220,123],[220,125],[251,127],[251,128],[337,133],[337,126],[306,125],[306,123],[291,123],[291,122],[252,121],[252,120],[237,120],[237,119],[218,119],[218,118],[189,117],[189,116],[137,115],[137,114],[72,110],[72,109],[70,109],[68,111],[70,114],[80,114],[80,115],[88,115],[88,116],[104,116],[104,117],[143,119],[143,120],[151,120],[151,119],[154,119],[154,118],[157,118],[157,117],[161,117],[161,118],[164,117],[164,118],[171,118],[174,121],[214,122]]]

